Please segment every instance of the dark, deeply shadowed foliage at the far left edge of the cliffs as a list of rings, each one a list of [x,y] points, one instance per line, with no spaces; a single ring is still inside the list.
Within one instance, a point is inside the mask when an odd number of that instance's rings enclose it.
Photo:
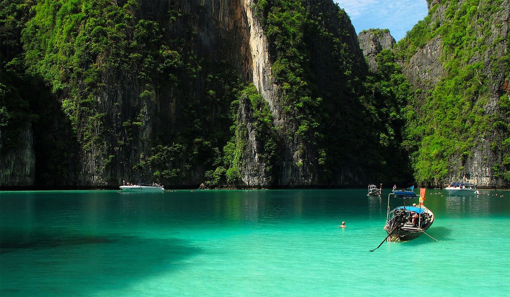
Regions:
[[[59,102],[42,77],[26,71],[22,30],[30,20],[32,1],[0,3],[0,135],[1,154],[25,141],[27,124],[33,130],[37,162],[35,178],[52,181],[75,176],[78,145]]]

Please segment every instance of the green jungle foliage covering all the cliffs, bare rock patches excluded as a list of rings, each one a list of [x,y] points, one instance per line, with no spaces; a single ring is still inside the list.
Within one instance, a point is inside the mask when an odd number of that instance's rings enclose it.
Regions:
[[[271,185],[285,186],[278,175],[290,143],[299,148],[296,166],[318,173],[316,185],[440,184],[453,167],[462,170],[487,133],[504,160],[493,169],[510,181],[508,92],[497,113],[483,109],[491,73],[509,73],[510,59],[469,63],[502,42],[487,39],[490,19],[470,22],[502,9],[501,1],[450,1],[441,21],[432,18],[433,7],[394,51],[379,53],[377,73],[353,49],[347,14],[324,9],[329,0],[254,2],[285,129],[275,127],[268,103],[240,74],[228,52],[236,44],[218,39],[203,47],[203,19],[179,5],[147,9],[159,3],[1,2],[3,150],[16,149],[16,136],[32,123],[36,184],[81,184],[87,175],[93,185],[139,178],[239,186],[247,155],[243,104]],[[413,90],[397,61],[437,35],[447,76],[430,92]]]

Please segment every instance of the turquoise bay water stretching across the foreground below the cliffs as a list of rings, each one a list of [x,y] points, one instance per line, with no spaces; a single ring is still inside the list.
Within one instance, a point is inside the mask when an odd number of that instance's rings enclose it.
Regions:
[[[0,295],[510,295],[510,192],[427,190],[439,241],[372,253],[387,197],[366,193],[0,192]]]

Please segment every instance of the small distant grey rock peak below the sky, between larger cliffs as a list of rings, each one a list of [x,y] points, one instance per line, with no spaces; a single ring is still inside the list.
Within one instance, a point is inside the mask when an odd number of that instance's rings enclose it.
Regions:
[[[389,30],[370,29],[358,34],[360,47],[372,71],[377,71],[375,56],[383,49],[392,49],[396,41]]]

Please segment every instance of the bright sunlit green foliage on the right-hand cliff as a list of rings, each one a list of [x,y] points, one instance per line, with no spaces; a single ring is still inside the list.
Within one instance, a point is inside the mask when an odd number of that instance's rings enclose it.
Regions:
[[[458,172],[461,179],[473,151],[490,140],[490,149],[503,160],[492,168],[494,176],[510,181],[510,97],[508,88],[494,86],[501,74],[507,84],[510,74],[510,55],[498,55],[504,43],[510,48],[510,39],[493,34],[493,26],[501,29],[495,15],[505,5],[499,0],[443,0],[441,5],[447,5],[444,19],[435,17],[439,5],[433,6],[395,48],[399,59],[409,61],[429,40],[440,37],[442,42],[445,75],[405,113],[404,142],[415,178],[437,185]],[[480,59],[486,56],[488,61]],[[494,89],[499,98],[490,98]],[[497,108],[489,112],[493,102]]]

